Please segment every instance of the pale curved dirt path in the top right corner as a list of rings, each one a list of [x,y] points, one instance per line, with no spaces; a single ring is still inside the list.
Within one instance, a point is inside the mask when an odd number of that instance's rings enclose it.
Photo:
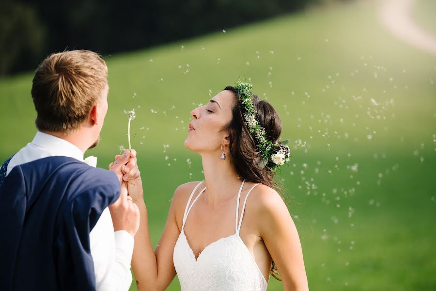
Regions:
[[[436,36],[425,32],[413,22],[411,8],[416,0],[383,0],[379,18],[395,37],[418,49],[436,55]]]

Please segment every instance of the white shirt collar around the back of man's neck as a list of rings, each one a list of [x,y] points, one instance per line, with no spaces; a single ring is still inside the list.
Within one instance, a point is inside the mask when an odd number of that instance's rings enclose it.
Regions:
[[[83,161],[83,153],[77,146],[54,135],[38,131],[32,144],[52,153],[53,156],[65,156]]]

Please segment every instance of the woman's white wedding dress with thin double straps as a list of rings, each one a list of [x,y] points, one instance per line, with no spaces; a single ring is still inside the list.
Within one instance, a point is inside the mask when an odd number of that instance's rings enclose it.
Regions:
[[[239,199],[242,186],[238,192],[235,215],[235,233],[204,248],[197,259],[187,242],[184,226],[194,203],[206,190],[198,194],[189,206],[192,197],[202,182],[192,191],[185,214],[183,216],[182,231],[174,246],[173,261],[179,277],[182,291],[265,291],[267,282],[264,275],[251,256],[248,248],[239,236],[245,204],[251,190],[249,190],[242,206],[241,218],[238,223]],[[213,226],[212,226],[213,227]]]

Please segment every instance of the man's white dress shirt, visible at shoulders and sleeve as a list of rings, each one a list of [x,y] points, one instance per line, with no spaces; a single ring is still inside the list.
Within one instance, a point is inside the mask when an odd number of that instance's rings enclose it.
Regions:
[[[6,175],[16,165],[52,156],[66,156],[83,162],[83,153],[77,146],[61,138],[38,131],[33,141],[18,151],[11,159]],[[86,160],[84,162],[94,163],[95,167],[95,158],[87,158]],[[91,163],[88,162],[89,160]],[[133,237],[125,230],[114,232],[108,208],[101,214],[89,237],[97,291],[128,290],[132,284],[130,262],[133,253]]]

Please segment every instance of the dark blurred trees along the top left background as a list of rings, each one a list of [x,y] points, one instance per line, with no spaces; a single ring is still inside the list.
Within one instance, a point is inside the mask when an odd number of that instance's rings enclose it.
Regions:
[[[0,10],[0,74],[33,68],[55,51],[92,49],[107,54],[142,49],[318,1],[322,0],[6,0]]]

